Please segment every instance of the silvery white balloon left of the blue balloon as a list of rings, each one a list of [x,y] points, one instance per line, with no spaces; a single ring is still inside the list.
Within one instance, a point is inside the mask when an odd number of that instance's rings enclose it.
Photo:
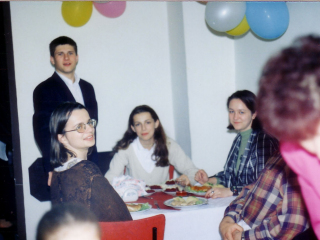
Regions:
[[[218,32],[229,31],[240,24],[246,14],[246,2],[208,2],[207,24]]]

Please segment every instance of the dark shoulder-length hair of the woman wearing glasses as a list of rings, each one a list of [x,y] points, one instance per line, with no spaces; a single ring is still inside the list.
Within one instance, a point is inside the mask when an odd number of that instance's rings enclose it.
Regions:
[[[53,168],[62,166],[68,160],[68,154],[71,157],[77,157],[76,154],[69,149],[65,148],[58,139],[58,134],[65,134],[64,128],[74,110],[85,109],[80,103],[77,102],[64,102],[60,104],[51,114],[49,129],[51,134],[51,148],[50,148],[50,163]],[[88,154],[92,151],[89,148]]]

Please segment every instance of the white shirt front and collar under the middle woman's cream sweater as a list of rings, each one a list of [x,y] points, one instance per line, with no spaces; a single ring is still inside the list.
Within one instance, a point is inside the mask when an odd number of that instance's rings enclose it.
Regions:
[[[137,137],[135,140],[133,140],[132,146],[143,169],[147,173],[151,173],[156,166],[156,161],[152,157],[152,154],[154,153],[155,144],[153,144],[150,150],[146,149],[141,145],[139,137]]]

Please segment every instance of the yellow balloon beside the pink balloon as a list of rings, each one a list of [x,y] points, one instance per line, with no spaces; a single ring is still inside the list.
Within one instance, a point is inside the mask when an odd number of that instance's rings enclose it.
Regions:
[[[63,2],[61,13],[66,23],[73,27],[81,27],[89,21],[92,14],[92,8],[92,2]]]

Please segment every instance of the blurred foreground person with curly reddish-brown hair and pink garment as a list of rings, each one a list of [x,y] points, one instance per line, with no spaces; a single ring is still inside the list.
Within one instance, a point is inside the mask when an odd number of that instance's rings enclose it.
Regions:
[[[260,78],[257,106],[266,130],[280,140],[298,175],[320,239],[320,37],[309,35],[272,57]]]

